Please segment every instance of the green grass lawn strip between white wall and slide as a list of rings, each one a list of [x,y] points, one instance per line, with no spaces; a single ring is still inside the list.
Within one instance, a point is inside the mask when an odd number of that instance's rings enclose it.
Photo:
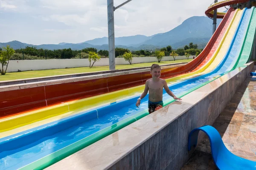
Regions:
[[[116,65],[116,70],[125,69],[125,68],[135,68],[135,67],[146,67],[151,66],[152,64],[171,64],[177,62],[190,62],[192,59],[180,59],[175,61],[162,61],[158,62],[147,62],[147,63],[138,63],[138,64],[128,64],[128,65]],[[107,71],[109,66],[98,66],[98,67],[79,67],[79,68],[63,68],[63,69],[51,69],[51,70],[37,70],[37,71],[22,71],[22,72],[12,72],[6,73],[6,75],[0,75],[0,81],[6,80],[15,80],[15,79],[28,79],[34,77],[47,77],[47,76],[56,76],[64,74],[76,74],[76,73],[88,73],[95,71]]]

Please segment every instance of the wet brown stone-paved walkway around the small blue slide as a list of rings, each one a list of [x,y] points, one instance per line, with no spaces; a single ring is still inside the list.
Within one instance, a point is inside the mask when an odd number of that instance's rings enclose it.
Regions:
[[[256,161],[256,77],[248,77],[214,124],[232,153]],[[207,136],[181,170],[217,170]]]

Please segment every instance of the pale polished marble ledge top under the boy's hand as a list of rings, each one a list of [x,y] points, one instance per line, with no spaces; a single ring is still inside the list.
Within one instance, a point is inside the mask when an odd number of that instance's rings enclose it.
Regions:
[[[105,170],[110,168],[243,69],[245,68],[238,68],[204,85],[183,96],[181,102],[172,102],[143,119],[53,164],[47,170],[69,170],[70,168]]]

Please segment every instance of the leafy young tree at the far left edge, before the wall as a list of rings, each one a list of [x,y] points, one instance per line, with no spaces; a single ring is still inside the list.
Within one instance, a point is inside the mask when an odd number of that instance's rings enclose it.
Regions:
[[[3,51],[0,52],[0,63],[2,64],[2,68],[0,68],[0,73],[2,75],[6,74],[9,60],[13,56],[14,53],[15,53],[15,51],[13,48],[10,47],[10,45],[3,47]],[[5,69],[3,68],[4,66],[6,66]]]

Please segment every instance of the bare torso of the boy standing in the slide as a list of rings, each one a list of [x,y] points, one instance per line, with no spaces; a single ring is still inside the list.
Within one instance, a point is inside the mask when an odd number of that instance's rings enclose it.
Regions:
[[[160,102],[163,100],[163,79],[158,79],[154,81],[153,79],[148,80],[148,99],[151,102]]]

